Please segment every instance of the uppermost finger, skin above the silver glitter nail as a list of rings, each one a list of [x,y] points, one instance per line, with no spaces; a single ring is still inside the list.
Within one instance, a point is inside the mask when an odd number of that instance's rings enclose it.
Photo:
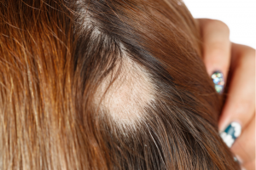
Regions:
[[[230,30],[222,21],[198,19],[203,41],[203,60],[210,76],[215,71],[227,77],[230,68]],[[218,89],[217,89],[218,91]]]

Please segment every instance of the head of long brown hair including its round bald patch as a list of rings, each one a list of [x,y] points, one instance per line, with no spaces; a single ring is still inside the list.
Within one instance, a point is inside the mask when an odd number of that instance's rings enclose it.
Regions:
[[[0,3],[0,169],[239,169],[177,0]]]

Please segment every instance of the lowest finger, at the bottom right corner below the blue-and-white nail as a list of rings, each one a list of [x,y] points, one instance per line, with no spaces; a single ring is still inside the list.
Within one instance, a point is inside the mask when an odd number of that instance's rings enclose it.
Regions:
[[[232,145],[231,151],[241,165],[255,160],[255,114],[251,122],[244,128],[241,136]]]

